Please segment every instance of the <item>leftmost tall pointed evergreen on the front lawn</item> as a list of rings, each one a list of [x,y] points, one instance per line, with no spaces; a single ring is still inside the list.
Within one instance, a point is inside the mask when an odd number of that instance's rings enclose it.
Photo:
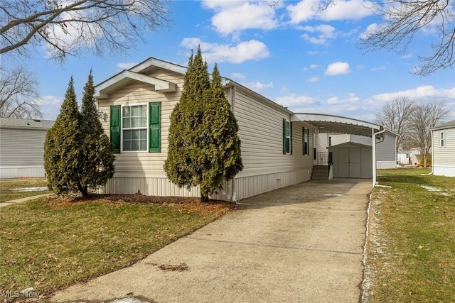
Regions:
[[[80,112],[77,108],[73,77],[54,125],[45,136],[44,168],[48,175],[48,187],[57,194],[77,189],[73,172],[80,167],[81,132]]]

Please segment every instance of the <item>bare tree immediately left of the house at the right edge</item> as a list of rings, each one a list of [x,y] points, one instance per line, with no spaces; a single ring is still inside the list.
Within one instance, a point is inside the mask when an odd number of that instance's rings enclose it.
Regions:
[[[432,135],[430,128],[446,119],[449,111],[444,101],[434,101],[428,104],[414,106],[411,116],[412,137],[419,146],[420,155],[424,159],[424,167],[427,167],[427,156],[432,148]]]

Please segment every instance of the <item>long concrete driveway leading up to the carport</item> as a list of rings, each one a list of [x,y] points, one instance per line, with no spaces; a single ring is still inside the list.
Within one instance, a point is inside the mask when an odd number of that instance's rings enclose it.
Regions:
[[[311,181],[243,200],[234,214],[52,301],[359,302],[371,189],[371,180]]]

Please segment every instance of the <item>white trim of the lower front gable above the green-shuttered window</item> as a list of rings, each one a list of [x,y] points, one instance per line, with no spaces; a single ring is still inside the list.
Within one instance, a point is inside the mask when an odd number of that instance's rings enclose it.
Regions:
[[[136,72],[130,72],[129,70],[124,70],[123,72],[120,72],[119,74],[108,79],[107,81],[102,82],[102,84],[97,85],[97,87],[95,87],[94,97],[97,99],[109,98],[110,93],[112,93],[115,90],[122,87],[122,85],[119,85],[119,82],[122,82],[125,79],[154,85],[155,90],[157,92],[175,92],[176,91],[175,83],[167,82],[167,81],[164,81],[161,79],[156,79],[154,77],[149,77],[146,75],[137,74]]]

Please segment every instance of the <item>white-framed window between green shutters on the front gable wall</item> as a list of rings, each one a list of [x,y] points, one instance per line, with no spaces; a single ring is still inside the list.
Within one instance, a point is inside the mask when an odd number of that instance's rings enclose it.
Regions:
[[[147,150],[147,104],[122,106],[122,151]]]

